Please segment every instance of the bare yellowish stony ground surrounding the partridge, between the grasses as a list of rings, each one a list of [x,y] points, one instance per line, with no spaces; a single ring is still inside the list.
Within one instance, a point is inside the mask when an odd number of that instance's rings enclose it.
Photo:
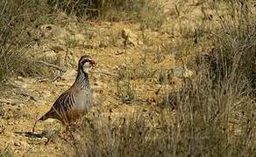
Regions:
[[[8,80],[0,96],[2,150],[15,156],[68,154],[69,143],[58,135],[63,131],[58,121],[39,122],[36,133],[31,131],[35,120],[74,82],[76,63],[83,54],[96,60],[90,72],[96,103],[93,112],[100,110],[103,117],[113,120],[134,112],[157,117],[158,104],[167,93],[178,89],[182,78],[194,77],[196,70],[188,65],[193,53],[210,50],[204,46],[206,40],[193,44],[195,38],[185,35],[204,21],[214,21],[209,3],[200,2],[170,1],[167,20],[155,31],[141,31],[139,24],[78,22],[65,15],[60,15],[59,24],[41,25],[35,33],[42,38],[29,53],[46,74],[53,74],[32,78],[21,73]],[[57,137],[52,141],[53,132]]]

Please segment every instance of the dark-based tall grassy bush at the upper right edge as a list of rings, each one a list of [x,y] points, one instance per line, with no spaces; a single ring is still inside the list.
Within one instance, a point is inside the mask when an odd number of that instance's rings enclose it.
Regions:
[[[231,2],[230,2],[231,3]],[[240,6],[239,2],[231,3]],[[256,89],[256,20],[252,6],[246,3],[247,11],[240,8],[237,18],[222,18],[221,28],[214,31],[215,47],[207,59],[210,63],[210,76],[216,81],[243,80],[255,94]],[[237,7],[238,7],[237,6]]]

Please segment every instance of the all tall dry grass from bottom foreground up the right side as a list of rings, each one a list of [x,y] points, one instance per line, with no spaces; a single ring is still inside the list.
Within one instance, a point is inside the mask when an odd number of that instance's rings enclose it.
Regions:
[[[135,113],[130,119],[114,122],[101,117],[93,119],[85,123],[81,133],[84,137],[74,140],[75,154],[256,154],[254,16],[253,13],[239,14],[238,21],[223,18],[217,24],[220,28],[210,30],[215,46],[209,54],[196,56],[196,62],[193,63],[196,65],[196,79],[185,79],[180,90],[170,92],[160,103],[157,116],[141,112]],[[199,38],[202,36],[201,31],[191,32],[194,33]],[[136,75],[136,72],[127,69],[120,72],[120,76],[123,76],[120,79],[126,75]],[[126,92],[129,92],[129,88]],[[170,116],[172,113],[174,117]],[[159,123],[152,125],[152,119],[158,119]],[[169,122],[170,119],[172,123]]]

